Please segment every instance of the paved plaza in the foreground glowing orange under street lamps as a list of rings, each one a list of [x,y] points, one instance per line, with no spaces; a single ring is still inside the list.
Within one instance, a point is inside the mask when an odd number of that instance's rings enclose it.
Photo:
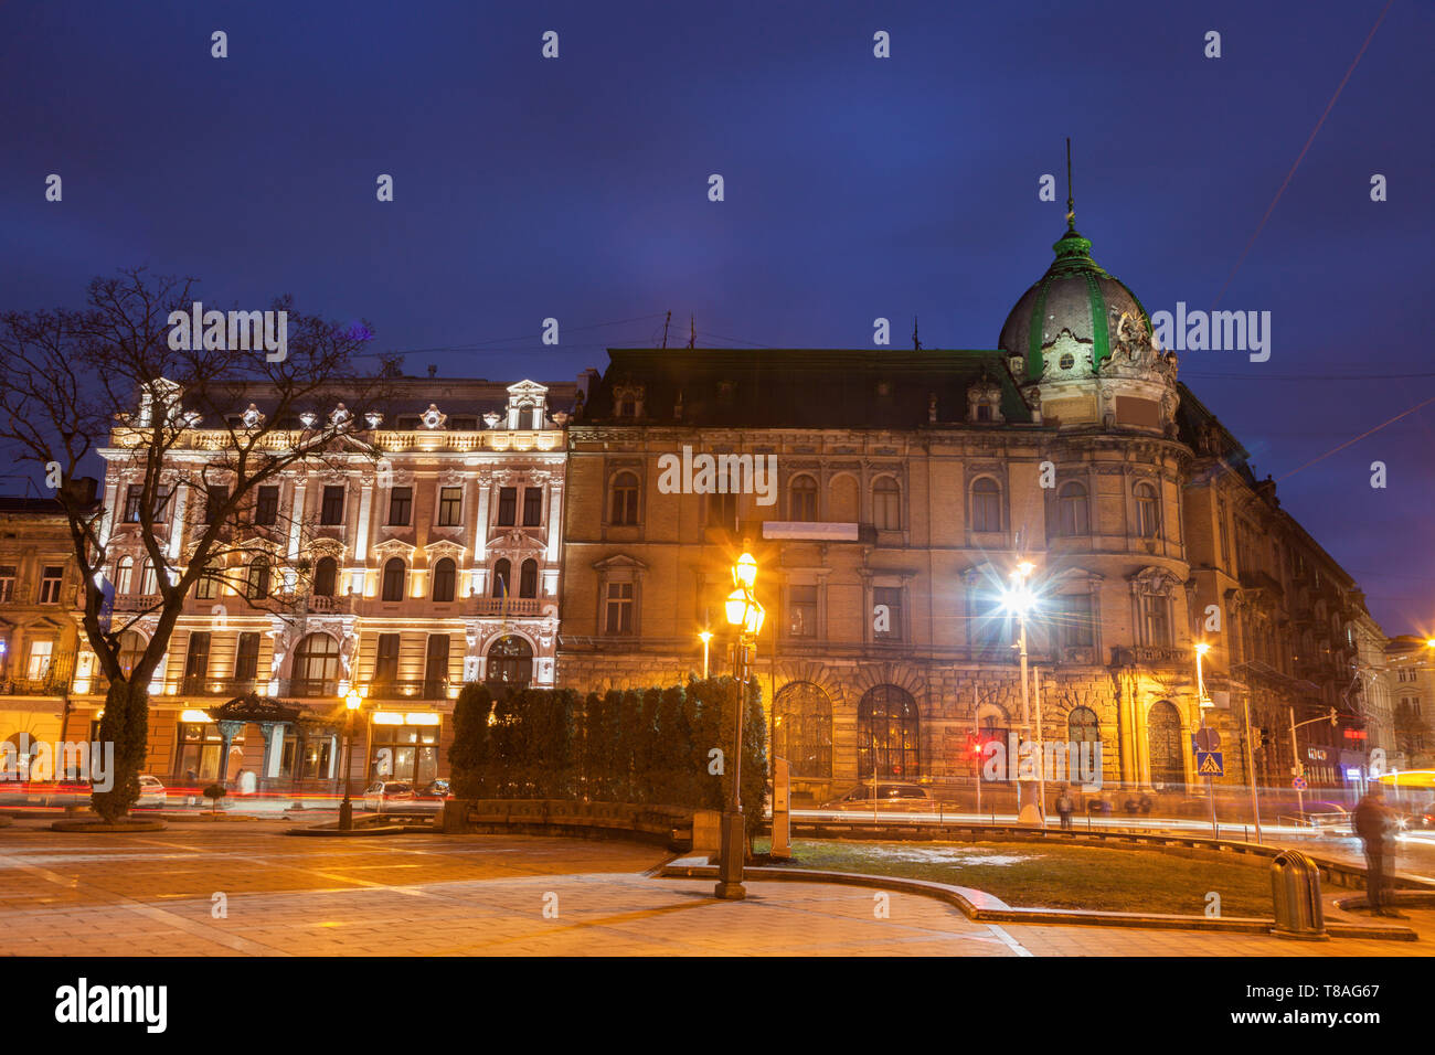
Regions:
[[[128,835],[0,830],[0,952],[89,956],[1312,956],[1425,942],[1283,942],[1116,927],[989,926],[894,893],[644,873],[656,847],[509,835],[288,838],[280,824]],[[218,897],[222,894],[222,899]],[[222,903],[224,913],[218,914]],[[1435,911],[1411,913],[1435,936]]]

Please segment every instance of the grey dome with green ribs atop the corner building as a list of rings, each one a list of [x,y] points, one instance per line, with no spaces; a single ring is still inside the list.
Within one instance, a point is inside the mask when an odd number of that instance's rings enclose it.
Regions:
[[[1016,301],[1002,326],[997,347],[1009,356],[1023,356],[1027,379],[1036,380],[1046,370],[1043,352],[1068,330],[1078,346],[1089,346],[1089,357],[1062,372],[1095,376],[1111,356],[1111,334],[1121,316],[1139,317],[1147,333],[1151,333],[1151,317],[1131,290],[1091,258],[1091,241],[1076,231],[1071,215],[1066,233],[1052,248],[1056,260]]]

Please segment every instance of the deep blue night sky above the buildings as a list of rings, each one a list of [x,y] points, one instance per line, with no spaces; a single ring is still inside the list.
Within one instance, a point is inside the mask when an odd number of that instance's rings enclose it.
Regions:
[[[601,370],[667,310],[677,344],[696,316],[699,346],[871,347],[885,316],[910,347],[920,316],[989,349],[1063,230],[1069,135],[1078,228],[1149,311],[1271,313],[1269,362],[1187,352],[1182,380],[1388,633],[1432,629],[1435,405],[1300,469],[1435,395],[1429,4],[1389,6],[1224,294],[1383,0],[507,7],[0,6],[0,307],[149,264],[505,382]]]

